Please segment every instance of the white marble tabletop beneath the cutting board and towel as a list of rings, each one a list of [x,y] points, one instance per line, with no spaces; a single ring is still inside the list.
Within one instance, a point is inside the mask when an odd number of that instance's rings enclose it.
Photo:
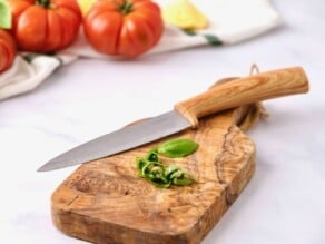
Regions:
[[[8,243],[79,244],[51,223],[50,196],[75,167],[36,169],[63,150],[169,110],[216,79],[302,66],[307,95],[265,101],[249,137],[257,169],[204,244],[325,243],[325,4],[274,1],[284,26],[254,40],[137,61],[78,60],[31,94],[0,104],[0,233]]]

